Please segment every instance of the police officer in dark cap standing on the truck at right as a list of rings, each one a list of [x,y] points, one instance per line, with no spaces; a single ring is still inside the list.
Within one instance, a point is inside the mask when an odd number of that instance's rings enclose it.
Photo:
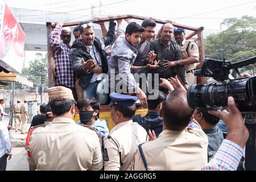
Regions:
[[[174,38],[176,43],[180,45],[182,51],[182,60],[176,61],[174,64],[185,65],[189,84],[196,84],[196,76],[194,76],[193,70],[196,69],[196,63],[199,62],[199,49],[197,44],[193,40],[185,39],[185,31],[183,28],[174,29]]]

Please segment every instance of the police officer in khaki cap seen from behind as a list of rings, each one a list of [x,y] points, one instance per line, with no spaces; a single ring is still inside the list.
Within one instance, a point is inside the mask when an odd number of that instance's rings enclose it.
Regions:
[[[54,119],[48,125],[32,127],[27,135],[30,168],[54,171],[102,169],[101,146],[96,133],[73,121],[75,100],[71,89],[52,87],[48,89],[48,95]]]

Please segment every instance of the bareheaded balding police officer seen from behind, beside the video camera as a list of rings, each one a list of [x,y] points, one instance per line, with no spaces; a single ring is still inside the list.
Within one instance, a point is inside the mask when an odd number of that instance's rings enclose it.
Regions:
[[[207,164],[208,139],[198,123],[188,127],[193,109],[187,93],[175,89],[160,107],[163,131],[158,138],[138,146],[135,170],[200,170]]]

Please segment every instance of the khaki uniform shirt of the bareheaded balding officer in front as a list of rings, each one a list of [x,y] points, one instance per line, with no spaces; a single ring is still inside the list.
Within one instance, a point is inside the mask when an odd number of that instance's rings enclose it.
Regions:
[[[149,171],[200,170],[207,164],[207,147],[208,138],[204,131],[191,127],[183,131],[163,130],[158,138],[141,144]],[[134,170],[146,170],[139,149]]]

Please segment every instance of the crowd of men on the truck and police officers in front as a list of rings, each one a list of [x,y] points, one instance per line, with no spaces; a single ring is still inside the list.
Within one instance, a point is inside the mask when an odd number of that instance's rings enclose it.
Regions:
[[[225,113],[188,106],[197,44],[171,23],[155,39],[154,20],[125,21],[125,30],[122,19],[117,28],[110,21],[108,31],[101,23],[101,38],[92,22],[81,22],[72,46],[71,29],[56,23],[49,37],[56,86],[40,107],[45,122],[35,118],[27,134],[30,170],[237,170],[249,133],[233,97]],[[152,77],[137,80],[137,73]],[[105,104],[115,124],[110,131],[100,118]],[[138,105],[148,107],[144,117],[135,115]]]

